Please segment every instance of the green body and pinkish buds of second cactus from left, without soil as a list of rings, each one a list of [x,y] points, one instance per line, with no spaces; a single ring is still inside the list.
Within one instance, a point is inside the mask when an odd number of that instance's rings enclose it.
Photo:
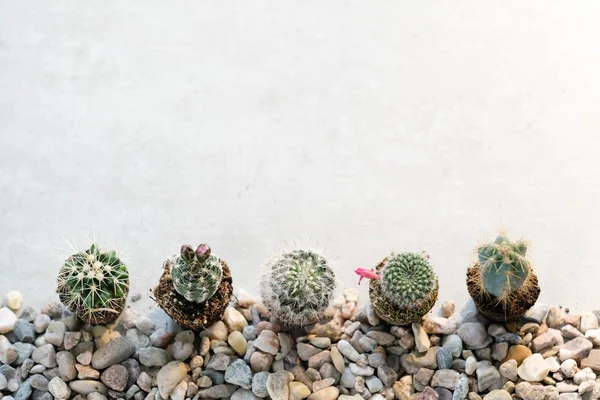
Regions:
[[[173,287],[186,300],[203,303],[219,289],[223,268],[219,257],[211,253],[207,244],[196,251],[190,245],[181,247],[180,255],[171,265]]]

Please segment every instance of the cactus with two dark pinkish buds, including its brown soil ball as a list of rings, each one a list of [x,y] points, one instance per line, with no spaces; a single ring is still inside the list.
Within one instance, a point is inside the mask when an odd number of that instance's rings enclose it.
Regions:
[[[165,262],[154,289],[159,306],[181,327],[194,330],[220,320],[232,293],[229,267],[207,244],[195,250],[182,246],[178,256]]]

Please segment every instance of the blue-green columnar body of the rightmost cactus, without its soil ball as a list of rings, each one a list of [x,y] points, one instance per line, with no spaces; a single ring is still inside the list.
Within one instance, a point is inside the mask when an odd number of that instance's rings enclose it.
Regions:
[[[502,300],[522,287],[531,270],[526,252],[524,241],[511,242],[504,235],[480,246],[477,253],[484,289]]]

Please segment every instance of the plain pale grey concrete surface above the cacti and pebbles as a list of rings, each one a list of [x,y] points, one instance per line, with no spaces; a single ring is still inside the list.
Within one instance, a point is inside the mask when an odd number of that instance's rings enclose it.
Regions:
[[[440,298],[461,303],[473,248],[504,227],[534,245],[542,301],[597,308],[599,16],[596,1],[0,2],[0,295],[56,298],[68,243],[95,235],[127,256],[134,293],[200,241],[256,293],[273,251],[311,239],[340,286],[426,249]]]

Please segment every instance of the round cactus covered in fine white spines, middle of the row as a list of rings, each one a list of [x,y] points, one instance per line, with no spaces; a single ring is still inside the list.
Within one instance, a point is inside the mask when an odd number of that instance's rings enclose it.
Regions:
[[[275,318],[303,326],[316,322],[329,306],[335,274],[313,251],[293,250],[271,262],[262,277],[261,296]]]

